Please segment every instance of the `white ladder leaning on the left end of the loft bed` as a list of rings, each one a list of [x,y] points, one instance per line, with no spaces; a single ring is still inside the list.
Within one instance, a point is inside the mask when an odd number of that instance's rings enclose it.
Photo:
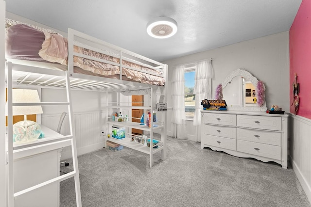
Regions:
[[[30,147],[25,147],[22,149],[15,150],[13,147],[13,116],[12,116],[12,106],[31,106],[31,105],[38,105],[38,103],[12,103],[12,70],[18,70],[13,68],[12,63],[7,63],[7,103],[8,103],[8,131],[6,136],[6,190],[7,190],[7,207],[14,207],[15,204],[15,198],[17,196],[20,196],[24,193],[27,193],[29,191],[33,191],[35,189],[39,189],[43,186],[52,184],[52,183],[59,183],[63,180],[69,179],[70,177],[74,177],[74,183],[75,183],[75,196],[76,196],[76,206],[81,207],[81,192],[80,192],[80,181],[79,181],[79,170],[78,170],[78,159],[77,159],[77,149],[76,149],[76,140],[75,140],[75,131],[73,130],[73,111],[72,111],[72,103],[71,103],[71,90],[70,90],[70,80],[69,80],[69,72],[65,71],[65,78],[66,78],[66,91],[67,91],[67,102],[41,102],[39,105],[68,105],[68,112],[69,112],[69,130],[70,135],[62,136],[60,138],[56,138],[50,143],[42,143],[37,144]],[[35,142],[33,142],[35,143]],[[64,175],[58,175],[50,180],[47,180],[45,182],[39,183],[35,186],[29,187],[27,189],[24,189],[22,191],[14,192],[14,167],[13,167],[13,161],[14,157],[17,153],[22,154],[22,151],[27,151],[30,148],[33,150],[35,148],[35,152],[37,154],[46,152],[43,151],[42,147],[44,146],[44,149],[55,149],[55,148],[62,148],[65,146],[71,145],[71,151],[72,151],[72,161],[73,161],[73,171],[69,172]],[[41,148],[41,149],[40,149]],[[48,150],[47,150],[48,151]],[[38,175],[39,176],[39,175]],[[57,192],[59,193],[59,192]],[[48,205],[48,204],[47,204]]]

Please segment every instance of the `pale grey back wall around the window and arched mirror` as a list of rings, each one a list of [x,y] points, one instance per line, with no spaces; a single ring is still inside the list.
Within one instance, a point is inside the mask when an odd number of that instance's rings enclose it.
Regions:
[[[214,78],[212,80],[212,97],[216,87],[225,77],[237,68],[249,71],[266,86],[267,107],[279,105],[289,112],[289,32],[281,32],[253,40],[247,40],[221,48],[215,48],[173,60],[165,61],[169,65],[168,86],[172,79],[173,67],[212,58]],[[172,107],[172,93],[168,87],[168,107]],[[170,117],[170,111],[168,113]],[[171,123],[168,120],[168,135]],[[188,138],[196,141],[192,122],[187,122]]]

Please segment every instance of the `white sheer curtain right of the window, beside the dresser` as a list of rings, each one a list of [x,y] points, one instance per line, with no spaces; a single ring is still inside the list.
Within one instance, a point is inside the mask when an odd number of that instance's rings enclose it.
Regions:
[[[201,141],[200,124],[201,124],[201,101],[211,99],[211,80],[213,78],[213,66],[211,60],[198,62],[195,68],[195,85],[193,94],[195,94],[195,112],[193,125],[196,127],[197,141]]]

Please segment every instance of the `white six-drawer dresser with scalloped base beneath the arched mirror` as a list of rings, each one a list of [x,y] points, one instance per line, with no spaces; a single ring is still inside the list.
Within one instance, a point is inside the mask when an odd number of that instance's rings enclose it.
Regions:
[[[287,169],[287,114],[202,111],[201,149],[274,161]]]

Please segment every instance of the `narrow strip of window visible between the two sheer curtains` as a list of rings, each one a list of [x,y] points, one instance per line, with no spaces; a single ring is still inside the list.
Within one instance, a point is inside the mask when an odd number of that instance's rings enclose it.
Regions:
[[[195,64],[185,67],[185,113],[186,117],[193,117],[195,111],[195,94],[193,94],[195,83]]]

